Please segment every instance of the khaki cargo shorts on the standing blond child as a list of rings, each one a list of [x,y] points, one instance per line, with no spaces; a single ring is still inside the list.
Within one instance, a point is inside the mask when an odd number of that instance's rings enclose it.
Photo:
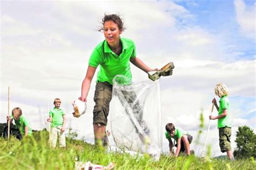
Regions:
[[[231,151],[231,127],[219,128],[220,151]]]

